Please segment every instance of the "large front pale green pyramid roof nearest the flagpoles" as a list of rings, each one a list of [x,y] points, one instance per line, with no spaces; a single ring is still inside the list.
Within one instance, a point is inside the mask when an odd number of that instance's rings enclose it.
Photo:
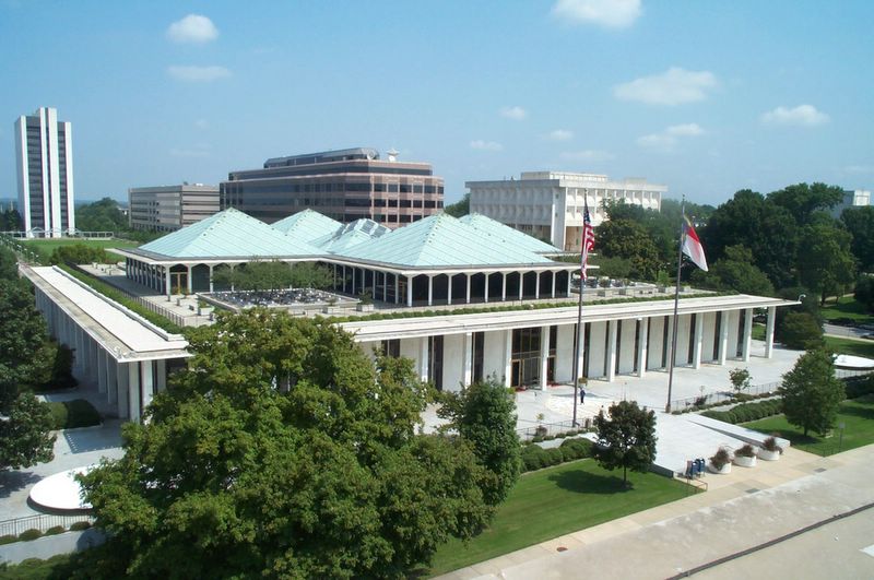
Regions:
[[[451,215],[432,215],[390,234],[338,252],[398,265],[501,265],[550,263],[531,250],[501,241]]]

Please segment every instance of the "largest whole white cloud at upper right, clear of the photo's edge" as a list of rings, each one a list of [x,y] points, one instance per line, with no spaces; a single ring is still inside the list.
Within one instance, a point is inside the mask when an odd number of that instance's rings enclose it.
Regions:
[[[707,98],[707,93],[717,86],[717,78],[710,71],[687,71],[671,67],[661,74],[641,76],[613,87],[613,94],[622,100],[639,100],[650,105],[682,105]]]

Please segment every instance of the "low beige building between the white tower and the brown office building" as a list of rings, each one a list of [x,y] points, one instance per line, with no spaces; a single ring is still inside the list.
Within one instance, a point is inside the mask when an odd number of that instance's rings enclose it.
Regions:
[[[132,229],[175,232],[218,212],[218,187],[182,184],[130,188],[128,208]]]

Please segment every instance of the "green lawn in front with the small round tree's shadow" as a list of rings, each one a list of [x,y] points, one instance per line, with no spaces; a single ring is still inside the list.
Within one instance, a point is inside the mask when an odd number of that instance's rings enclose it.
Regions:
[[[654,473],[629,473],[628,480],[634,488],[624,490],[622,473],[605,471],[593,460],[523,475],[492,526],[466,546],[452,541],[440,547],[429,572],[457,570],[692,493],[684,484]]]

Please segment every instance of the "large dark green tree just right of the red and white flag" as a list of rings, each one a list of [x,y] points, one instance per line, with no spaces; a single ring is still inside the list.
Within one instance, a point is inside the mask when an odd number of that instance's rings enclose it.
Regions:
[[[739,241],[753,252],[755,265],[780,288],[795,283],[799,227],[792,213],[744,189],[717,208],[700,232],[707,257],[717,261]]]

